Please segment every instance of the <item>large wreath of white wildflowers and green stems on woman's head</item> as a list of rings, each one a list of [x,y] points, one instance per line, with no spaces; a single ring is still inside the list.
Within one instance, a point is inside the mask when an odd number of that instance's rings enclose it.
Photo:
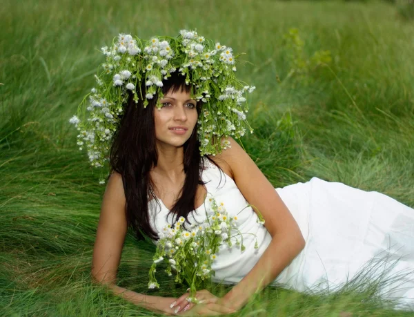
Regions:
[[[95,75],[97,86],[83,98],[77,115],[69,120],[77,127],[77,144],[81,151],[86,146],[92,166],[102,167],[108,161],[110,140],[130,94],[135,102],[143,100],[145,108],[155,95],[163,97],[162,79],[168,79],[173,72],[186,76],[186,84],[195,87],[191,97],[203,102],[197,120],[201,155],[216,155],[230,146],[228,140],[213,139],[229,135],[238,139],[246,128],[253,133],[246,120],[245,96],[255,86],[244,85],[236,78],[232,48],[205,39],[195,30],[181,30],[177,37],[152,37],[148,41],[120,34],[110,48],[101,50],[106,62]],[[141,91],[143,80],[146,91]],[[157,107],[161,108],[161,104]]]

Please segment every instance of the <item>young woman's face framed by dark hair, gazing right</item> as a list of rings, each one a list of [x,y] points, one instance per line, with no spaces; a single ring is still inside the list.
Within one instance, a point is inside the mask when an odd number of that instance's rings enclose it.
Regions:
[[[197,124],[197,102],[184,90],[170,91],[159,100],[162,108],[154,110],[157,144],[183,146]]]

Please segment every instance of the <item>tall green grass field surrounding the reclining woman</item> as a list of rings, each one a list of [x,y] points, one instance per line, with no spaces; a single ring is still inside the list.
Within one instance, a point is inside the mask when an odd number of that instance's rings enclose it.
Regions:
[[[237,71],[257,90],[248,115],[255,133],[242,142],[275,187],[317,176],[414,206],[414,23],[391,3],[3,0],[0,28],[2,316],[155,316],[90,283],[105,188],[68,122],[95,84],[97,49],[119,32],[148,38],[197,28],[246,52],[251,63]],[[291,28],[303,46],[284,39]],[[331,61],[312,64],[327,50]],[[148,291],[153,251],[129,234],[119,285]],[[154,295],[186,289],[159,282]],[[387,309],[368,287],[326,296],[269,287],[239,315],[343,311],[413,314]]]

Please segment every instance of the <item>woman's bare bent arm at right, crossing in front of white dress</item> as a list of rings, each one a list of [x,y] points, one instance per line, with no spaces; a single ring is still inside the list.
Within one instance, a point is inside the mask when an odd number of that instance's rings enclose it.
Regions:
[[[305,241],[292,214],[248,154],[229,137],[231,148],[219,156],[229,165],[244,198],[262,213],[272,241],[250,272],[220,302],[239,309],[262,291],[304,248]]]

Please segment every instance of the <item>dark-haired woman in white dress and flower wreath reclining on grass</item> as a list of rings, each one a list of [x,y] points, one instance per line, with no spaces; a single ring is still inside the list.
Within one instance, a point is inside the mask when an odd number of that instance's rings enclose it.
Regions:
[[[181,46],[175,46],[176,54],[181,52],[187,56],[191,52],[200,52],[201,48],[197,48],[196,43],[201,37],[196,32],[189,35],[188,31],[181,31],[180,36],[180,45],[190,49],[180,51]],[[191,44],[191,41],[195,43]],[[152,71],[158,62],[158,57],[153,57],[159,52],[166,50],[160,56],[170,54],[166,49],[170,46],[163,43],[153,38],[150,45],[144,48],[148,56],[152,54],[152,57],[144,56],[142,59],[142,63],[147,63],[144,64],[147,72]],[[127,65],[134,64],[136,69],[137,60],[130,59],[130,56],[137,55],[134,54],[137,51],[135,45],[134,40],[120,35],[115,53],[112,51],[107,56],[110,56],[111,62],[121,59]],[[130,56],[115,58],[126,50]],[[224,63],[233,65],[230,63],[233,55],[228,55],[228,51],[231,52],[228,49],[222,51],[221,57],[226,59]],[[209,58],[205,57],[202,61],[208,64]],[[148,64],[148,60],[155,64]],[[188,61],[187,69],[197,70],[195,59]],[[159,64],[162,65],[162,62]],[[184,61],[183,65],[186,64]],[[125,65],[119,66],[120,69],[126,68]],[[151,67],[148,68],[148,65]],[[203,83],[208,81],[210,88],[217,87],[215,85],[219,85],[221,77],[226,74],[224,82],[228,85],[231,75],[226,71],[212,71],[210,78],[204,80],[199,76],[200,80],[194,82],[197,74],[186,73],[183,68],[172,70],[168,75],[167,72],[159,73],[165,75],[162,81],[159,77],[147,74],[140,78],[138,72],[132,75],[129,70],[122,70],[113,76],[112,81],[115,88],[126,87],[123,91],[127,97],[117,100],[124,108],[112,102],[118,98],[120,90],[103,99],[95,92],[95,99],[91,99],[90,111],[97,108],[108,118],[109,128],[99,126],[99,119],[103,116],[99,117],[98,112],[92,113],[90,121],[95,122],[95,131],[100,131],[100,134],[82,130],[79,120],[71,119],[71,122],[79,124],[83,140],[95,142],[97,137],[101,142],[112,140],[112,173],[103,197],[92,260],[95,279],[138,305],[166,314],[226,314],[243,307],[250,296],[266,285],[282,284],[297,291],[335,289],[356,277],[364,265],[373,263],[373,258],[383,256],[385,252],[397,260],[391,259],[377,266],[378,271],[373,265],[373,278],[382,274],[381,277],[386,280],[404,273],[394,283],[384,285],[382,295],[403,298],[401,305],[412,304],[413,209],[380,193],[367,193],[315,177],[304,184],[274,189],[248,154],[228,136],[230,133],[222,137],[223,133],[215,133],[220,132],[220,128],[213,127],[208,131],[208,126],[203,124],[209,116],[219,124],[220,115],[226,110],[221,108],[214,114],[203,110],[211,91],[206,92]],[[133,76],[136,76],[135,86],[126,84]],[[102,91],[112,91],[108,86],[101,86],[106,89],[102,88]],[[200,97],[201,89],[204,95]],[[237,95],[232,98],[234,95],[233,86],[221,87],[215,93],[215,100],[228,103],[234,100],[234,105],[239,105],[242,97]],[[96,106],[98,97],[101,99],[99,106]],[[111,103],[112,111],[105,110],[106,104]],[[233,109],[237,117],[230,117],[230,113],[223,119],[228,120],[226,126],[229,131],[239,128],[237,119],[245,119],[240,109]],[[215,108],[209,107],[208,110],[213,112]],[[115,115],[119,117],[119,122],[115,121]],[[110,124],[113,124],[112,131]],[[204,138],[209,132],[210,137]],[[225,151],[214,151],[221,148]],[[206,154],[208,152],[211,155]],[[99,160],[99,153],[90,151],[90,160]],[[221,177],[224,177],[224,182],[221,182]],[[213,267],[216,273],[214,280],[237,285],[223,298],[217,298],[205,290],[199,291],[197,298],[203,299],[204,303],[197,305],[186,301],[187,294],[177,299],[160,298],[117,287],[116,272],[128,226],[135,230],[137,238],[142,239],[146,235],[156,241],[157,233],[170,220],[184,216],[188,223],[202,221],[204,213],[200,211],[207,193],[224,202],[230,215],[237,213],[239,228],[247,233],[244,238],[246,250],[221,248]],[[265,227],[257,224],[254,209],[244,208],[247,204],[262,213]],[[249,240],[249,233],[257,237],[258,249],[254,247],[256,240]],[[391,266],[388,267],[388,264]]]

